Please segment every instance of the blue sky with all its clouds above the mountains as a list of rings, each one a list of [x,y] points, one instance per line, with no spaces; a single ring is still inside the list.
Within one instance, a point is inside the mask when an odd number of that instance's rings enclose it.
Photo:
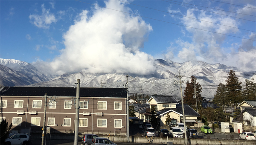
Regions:
[[[0,58],[48,73],[154,73],[154,60],[256,70],[255,0],[0,0]]]

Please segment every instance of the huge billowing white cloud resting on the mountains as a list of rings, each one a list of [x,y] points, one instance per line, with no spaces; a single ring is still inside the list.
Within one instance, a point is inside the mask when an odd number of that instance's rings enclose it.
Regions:
[[[130,12],[119,1],[105,2],[106,7]],[[141,17],[105,8],[83,10],[75,24],[64,34],[65,49],[50,62],[57,74],[88,73],[153,73],[154,58],[140,51],[152,27]],[[44,62],[38,62],[46,65]]]

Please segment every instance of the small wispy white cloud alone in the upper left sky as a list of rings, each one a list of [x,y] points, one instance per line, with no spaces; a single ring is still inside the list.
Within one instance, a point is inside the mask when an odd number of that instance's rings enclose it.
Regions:
[[[57,19],[55,19],[54,14],[50,13],[49,9],[44,8],[44,4],[41,5],[42,8],[42,14],[30,14],[29,19],[30,22],[35,24],[38,28],[44,28],[48,29],[51,23],[57,22]]]

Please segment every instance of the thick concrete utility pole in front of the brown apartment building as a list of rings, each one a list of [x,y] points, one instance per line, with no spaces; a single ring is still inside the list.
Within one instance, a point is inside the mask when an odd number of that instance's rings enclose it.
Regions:
[[[79,101],[80,101],[80,79],[76,80],[76,120],[75,120],[75,142],[78,145],[78,125],[79,125]]]

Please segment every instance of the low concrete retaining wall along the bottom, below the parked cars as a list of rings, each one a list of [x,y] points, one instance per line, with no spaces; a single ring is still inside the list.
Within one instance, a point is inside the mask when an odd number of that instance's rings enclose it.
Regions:
[[[81,136],[79,135],[79,142],[81,141]],[[31,139],[41,139],[42,134],[31,134]],[[108,138],[108,136],[101,136]],[[50,138],[50,135],[47,134],[47,139]],[[54,140],[74,140],[74,134],[51,134],[51,139]],[[109,139],[113,142],[127,142],[126,136],[109,136]],[[130,142],[136,143],[148,143],[148,139],[145,136],[130,136]],[[222,145],[256,145],[255,140],[220,140]],[[184,139],[174,139],[174,138],[160,138],[155,137],[153,144],[167,144],[167,142],[173,142],[173,144],[184,145]],[[217,139],[189,139],[190,145],[220,145],[220,142]]]

